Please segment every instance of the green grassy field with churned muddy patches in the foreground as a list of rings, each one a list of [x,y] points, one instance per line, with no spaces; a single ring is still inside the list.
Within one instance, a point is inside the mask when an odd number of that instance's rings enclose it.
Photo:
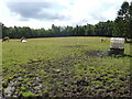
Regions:
[[[105,54],[110,38],[45,37],[2,43],[4,97],[130,97],[125,56]]]

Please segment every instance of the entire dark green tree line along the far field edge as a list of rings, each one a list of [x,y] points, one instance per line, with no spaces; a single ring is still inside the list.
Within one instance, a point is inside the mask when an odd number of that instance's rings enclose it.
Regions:
[[[132,38],[132,2],[124,1],[114,21],[99,22],[95,25],[56,26],[48,30],[31,29],[29,26],[2,26],[2,37],[26,38],[57,36],[118,36]]]

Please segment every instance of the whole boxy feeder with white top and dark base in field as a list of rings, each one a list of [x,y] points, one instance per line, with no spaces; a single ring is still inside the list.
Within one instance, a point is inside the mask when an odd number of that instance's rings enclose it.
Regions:
[[[112,54],[123,54],[124,53],[124,38],[123,37],[111,37],[110,52]]]

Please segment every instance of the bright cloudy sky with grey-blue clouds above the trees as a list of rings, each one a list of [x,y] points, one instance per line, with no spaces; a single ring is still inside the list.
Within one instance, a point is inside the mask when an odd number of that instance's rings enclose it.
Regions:
[[[52,24],[84,25],[114,20],[124,0],[0,0],[6,26],[48,29]],[[125,0],[131,1],[131,0]]]

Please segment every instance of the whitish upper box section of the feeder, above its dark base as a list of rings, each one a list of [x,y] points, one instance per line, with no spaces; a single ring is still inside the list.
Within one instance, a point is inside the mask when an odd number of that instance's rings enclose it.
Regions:
[[[124,38],[123,37],[111,37],[110,48],[124,50]]]

